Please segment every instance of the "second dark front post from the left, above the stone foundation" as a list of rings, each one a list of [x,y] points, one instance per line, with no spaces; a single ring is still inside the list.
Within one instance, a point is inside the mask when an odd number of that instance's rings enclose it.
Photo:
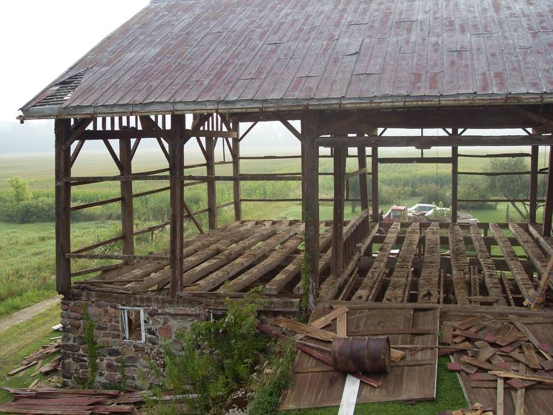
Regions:
[[[169,180],[171,215],[169,262],[171,265],[171,296],[182,288],[182,248],[184,243],[184,115],[171,116],[169,140]]]

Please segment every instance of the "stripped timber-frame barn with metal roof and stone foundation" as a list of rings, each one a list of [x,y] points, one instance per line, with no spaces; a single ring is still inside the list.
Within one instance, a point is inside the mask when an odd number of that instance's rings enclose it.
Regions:
[[[97,382],[116,381],[123,354],[128,384],[140,384],[145,358],[160,359],[158,338],[174,343],[177,329],[224,312],[222,299],[258,285],[264,286],[267,318],[297,313],[304,294],[310,309],[335,300],[505,312],[522,306],[553,252],[551,151],[549,169],[538,168],[540,146],[553,145],[552,10],[552,0],[152,0],[23,106],[19,117],[55,119],[64,379],[87,373],[79,343],[85,305],[106,352]],[[286,157],[301,158],[301,174],[240,172],[245,158],[284,157],[241,157],[241,141],[266,121],[279,121],[298,139],[301,151]],[[242,129],[242,123],[251,124]],[[447,135],[391,136],[386,128],[440,128]],[[470,134],[492,128],[519,128],[520,135]],[[105,143],[120,174],[72,175],[88,140]],[[133,170],[143,140],[157,140],[166,168]],[[192,167],[184,163],[189,140],[197,140],[205,156],[205,163],[193,166],[205,167],[205,175],[186,174]],[[216,160],[217,140],[230,160]],[[525,154],[530,172],[516,173],[530,175],[530,223],[378,223],[379,164],[450,164],[457,218],[459,175],[479,175],[459,171],[459,158],[467,156],[459,148],[484,145],[531,148]],[[437,146],[451,154],[379,157],[379,148]],[[331,155],[320,155],[320,148],[331,148]],[[320,157],[333,158],[332,221],[319,220]],[[358,160],[356,170],[345,171],[347,157]],[[216,175],[223,163],[232,165],[232,175]],[[542,174],[547,192],[539,200]],[[344,221],[346,183],[354,176],[362,213]],[[167,186],[133,193],[140,180]],[[301,181],[303,220],[243,218],[242,203],[263,201],[243,199],[240,186],[262,180]],[[121,196],[72,206],[72,187],[104,181],[120,182]],[[233,200],[220,205],[216,184],[225,181],[233,183]],[[186,188],[198,184],[206,184],[208,206],[193,212]],[[152,228],[135,229],[133,199],[155,192],[170,193],[169,221],[156,227],[169,226],[170,246],[135,255],[135,236]],[[543,221],[536,223],[542,201]],[[121,203],[121,236],[72,247],[71,212],[114,202]],[[233,206],[235,222],[218,222],[224,206]],[[207,215],[209,229],[199,215]],[[185,239],[188,220],[199,233]],[[118,255],[94,253],[119,241]],[[303,241],[311,270],[307,293],[300,280]],[[440,249],[447,245],[449,251]],[[476,254],[467,255],[465,245]],[[492,246],[503,255],[491,255]],[[82,258],[118,263],[72,272],[72,261]],[[86,274],[94,276],[72,284]]]

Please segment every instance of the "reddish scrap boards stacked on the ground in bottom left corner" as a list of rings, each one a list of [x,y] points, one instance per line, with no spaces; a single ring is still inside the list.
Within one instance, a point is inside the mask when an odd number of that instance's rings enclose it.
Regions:
[[[96,389],[15,389],[3,387],[14,398],[0,404],[0,412],[11,414],[138,414],[144,392]]]

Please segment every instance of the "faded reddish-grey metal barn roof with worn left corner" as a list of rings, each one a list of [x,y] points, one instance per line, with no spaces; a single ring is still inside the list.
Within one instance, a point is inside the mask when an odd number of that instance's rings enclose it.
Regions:
[[[152,0],[21,110],[552,102],[552,28],[553,0]]]

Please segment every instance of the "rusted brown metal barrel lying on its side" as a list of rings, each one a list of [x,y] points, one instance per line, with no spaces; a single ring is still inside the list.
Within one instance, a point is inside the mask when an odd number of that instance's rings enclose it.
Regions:
[[[333,341],[333,366],[341,372],[389,372],[390,339],[378,337],[337,337]]]

